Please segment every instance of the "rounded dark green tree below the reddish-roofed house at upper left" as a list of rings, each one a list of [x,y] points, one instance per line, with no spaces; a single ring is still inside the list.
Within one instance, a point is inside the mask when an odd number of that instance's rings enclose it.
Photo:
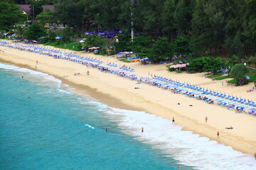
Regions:
[[[46,35],[46,29],[38,23],[32,23],[31,26],[24,31],[24,36],[27,40],[38,40],[38,38]]]

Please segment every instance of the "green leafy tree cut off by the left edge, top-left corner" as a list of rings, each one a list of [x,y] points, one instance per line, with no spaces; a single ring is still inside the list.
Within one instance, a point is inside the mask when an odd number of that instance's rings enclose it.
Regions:
[[[16,23],[26,21],[26,15],[18,8],[16,4],[0,1],[0,30],[10,30]]]

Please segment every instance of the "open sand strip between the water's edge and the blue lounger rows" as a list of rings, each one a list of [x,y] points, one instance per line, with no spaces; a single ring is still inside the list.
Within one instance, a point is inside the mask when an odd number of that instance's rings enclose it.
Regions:
[[[0,49],[3,48],[0,47]],[[140,89],[134,89],[135,81],[124,79],[114,74],[103,73],[97,69],[88,69],[90,70],[90,76],[87,77],[85,75],[87,68],[81,64],[63,60],[58,60],[58,64],[56,64],[56,60],[52,57],[8,48],[4,51],[0,53],[0,62],[53,75],[53,77],[60,79],[63,84],[68,84],[74,88],[76,94],[90,96],[95,98],[96,101],[100,101],[100,103],[114,108],[145,111],[146,113],[158,115],[168,120],[172,120],[172,117],[175,117],[176,124],[181,125],[183,130],[189,130],[203,137],[208,137],[210,140],[231,146],[233,149],[245,154],[254,154],[256,151],[256,142],[253,140],[256,139],[256,135],[253,134],[253,131],[249,132],[249,134],[248,132],[241,132],[248,130],[248,128],[251,128],[250,130],[255,129],[255,116],[246,115],[245,113],[237,114],[235,111],[228,111],[226,108],[220,106],[209,106],[205,102],[198,101],[195,98],[187,98],[181,94],[171,94],[170,91],[164,91],[147,84],[140,84]],[[21,53],[25,55],[22,56]],[[36,57],[29,57],[30,55],[36,55]],[[39,61],[38,69],[34,67],[36,60]],[[107,60],[110,60],[110,58],[107,58]],[[111,60],[114,59],[112,58]],[[139,72],[139,68],[137,69]],[[144,71],[140,73],[146,74],[148,70],[146,70],[146,67],[143,69]],[[73,76],[74,72],[81,72],[82,74],[75,77]],[[63,75],[67,74],[69,77],[63,77]],[[195,77],[195,75],[189,76]],[[209,80],[207,79],[207,81]],[[203,84],[208,84],[208,82],[204,82]],[[153,94],[150,95],[149,91]],[[181,103],[181,106],[178,106],[177,103]],[[190,104],[193,104],[193,107],[189,107]],[[227,115],[222,117],[221,113],[227,113]],[[205,115],[209,118],[208,123],[204,123]],[[229,123],[223,122],[222,119],[228,120],[230,117],[235,118],[229,120]],[[221,122],[219,123],[218,120],[221,120]],[[245,120],[245,123],[242,123],[242,120]],[[238,124],[234,125],[237,121],[242,123],[240,124],[242,130],[238,130]],[[246,123],[248,124],[248,121],[251,125],[244,125]],[[225,130],[225,126],[229,126],[229,124],[235,128],[233,131]],[[219,139],[216,135],[217,131],[220,131]],[[246,133],[246,135],[243,135],[243,133]]]

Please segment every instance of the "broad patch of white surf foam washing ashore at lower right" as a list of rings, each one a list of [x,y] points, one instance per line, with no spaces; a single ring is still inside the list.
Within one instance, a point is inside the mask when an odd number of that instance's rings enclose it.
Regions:
[[[105,112],[111,118],[119,119],[117,122],[127,135],[161,149],[180,164],[202,170],[256,169],[252,155],[242,154],[232,147],[210,141],[207,137],[199,137],[190,131],[183,131],[181,126],[172,125],[171,121],[164,118],[117,108],[108,108]],[[144,132],[141,132],[142,127]]]

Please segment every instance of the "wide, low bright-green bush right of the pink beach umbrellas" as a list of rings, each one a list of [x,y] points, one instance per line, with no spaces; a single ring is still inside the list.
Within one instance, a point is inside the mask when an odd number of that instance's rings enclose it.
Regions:
[[[188,61],[188,65],[186,65],[188,71],[213,72],[213,74],[216,74],[221,67],[225,67],[225,62],[220,61],[220,58],[199,57],[196,59],[190,58]]]

